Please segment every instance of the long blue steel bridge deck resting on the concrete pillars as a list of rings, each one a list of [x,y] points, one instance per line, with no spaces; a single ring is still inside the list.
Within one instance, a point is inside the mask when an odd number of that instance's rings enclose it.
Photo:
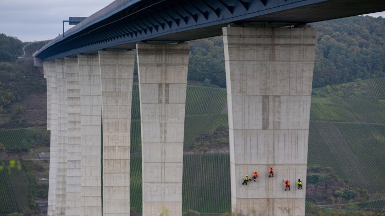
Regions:
[[[66,37],[50,41],[35,57],[134,49],[138,41],[200,39],[221,35],[228,24],[280,27],[379,11],[385,11],[383,0],[118,0],[65,32]]]

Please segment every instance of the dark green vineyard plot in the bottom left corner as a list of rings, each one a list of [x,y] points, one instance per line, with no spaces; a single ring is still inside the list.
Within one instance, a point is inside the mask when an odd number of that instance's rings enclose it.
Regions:
[[[9,164],[9,161],[0,160],[0,164]],[[16,168],[0,171],[0,212],[22,212],[28,208],[28,182],[23,169]]]

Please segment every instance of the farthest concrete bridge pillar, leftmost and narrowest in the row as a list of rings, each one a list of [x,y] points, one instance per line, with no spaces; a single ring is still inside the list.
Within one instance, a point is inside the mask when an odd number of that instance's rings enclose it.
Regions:
[[[48,188],[48,215],[55,215],[56,206],[56,155],[57,155],[57,88],[56,88],[56,63],[49,60],[47,71],[47,83],[49,83],[50,118],[49,129],[51,130],[50,158],[49,158],[49,188]],[[48,107],[47,107],[48,108]],[[48,125],[47,125],[48,126]]]

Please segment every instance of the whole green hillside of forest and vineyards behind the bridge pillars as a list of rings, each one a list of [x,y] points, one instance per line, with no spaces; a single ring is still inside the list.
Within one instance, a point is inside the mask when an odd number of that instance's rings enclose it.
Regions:
[[[357,16],[312,24],[318,28],[313,87],[320,88],[312,92],[306,185],[309,215],[353,214],[363,209],[384,212],[385,78],[378,78],[385,76],[384,20]],[[6,49],[17,51],[0,53],[8,56],[0,60],[0,156],[4,164],[9,158],[22,159],[21,170],[12,169],[11,176],[0,171],[0,213],[25,211],[28,215],[26,206],[35,208],[32,198],[47,197],[47,184],[37,181],[48,177],[48,160],[29,160],[37,159],[38,152],[49,152],[49,132],[44,129],[46,82],[30,59],[15,59],[22,55],[20,43],[14,38],[7,41],[16,47]],[[26,47],[26,56],[43,44]],[[226,90],[218,88],[225,86],[221,37],[191,41],[190,54],[183,211],[224,213],[230,210],[231,198]],[[141,212],[137,83],[131,118],[130,200],[131,207]],[[12,189],[19,187],[12,186],[13,180],[26,178],[28,189],[20,188],[28,190],[28,195],[25,192],[18,198],[21,193]],[[9,202],[12,208],[4,205]]]

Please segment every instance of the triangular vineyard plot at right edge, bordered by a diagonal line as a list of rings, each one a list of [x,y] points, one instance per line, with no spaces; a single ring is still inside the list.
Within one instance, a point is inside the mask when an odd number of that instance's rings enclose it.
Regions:
[[[385,125],[336,123],[357,155],[376,191],[385,192]]]

